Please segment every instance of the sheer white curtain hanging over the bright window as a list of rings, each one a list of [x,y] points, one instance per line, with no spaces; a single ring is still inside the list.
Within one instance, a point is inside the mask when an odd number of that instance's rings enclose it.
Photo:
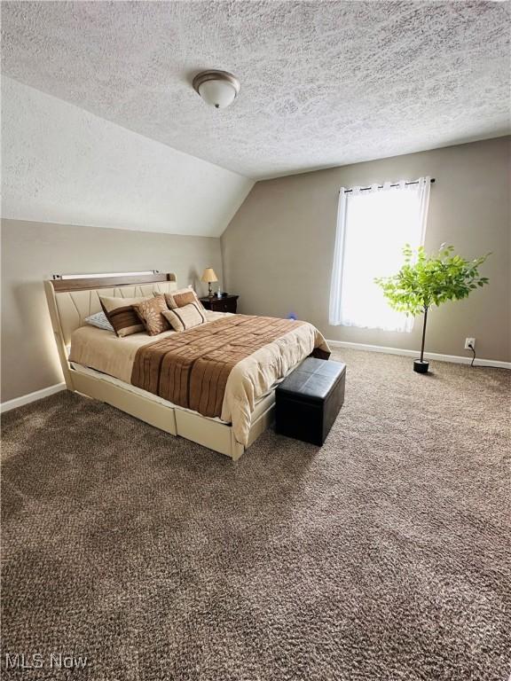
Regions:
[[[413,318],[389,307],[375,277],[395,274],[403,247],[424,244],[430,178],[370,189],[341,188],[330,286],[331,325],[410,332]]]

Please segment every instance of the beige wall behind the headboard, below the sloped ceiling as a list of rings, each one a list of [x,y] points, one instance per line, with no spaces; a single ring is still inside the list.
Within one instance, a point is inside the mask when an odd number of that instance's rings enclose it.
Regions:
[[[43,279],[161,270],[206,293],[199,278],[208,266],[222,277],[220,239],[3,220],[2,402],[62,380]]]

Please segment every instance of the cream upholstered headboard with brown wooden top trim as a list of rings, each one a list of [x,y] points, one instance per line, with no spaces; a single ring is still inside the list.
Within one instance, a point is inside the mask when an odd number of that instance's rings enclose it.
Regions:
[[[83,326],[85,317],[102,309],[99,295],[137,298],[151,295],[153,291],[170,293],[177,289],[177,283],[175,274],[155,272],[143,275],[54,278],[44,282],[44,289],[60,364],[69,386],[66,346],[71,340],[71,333]]]

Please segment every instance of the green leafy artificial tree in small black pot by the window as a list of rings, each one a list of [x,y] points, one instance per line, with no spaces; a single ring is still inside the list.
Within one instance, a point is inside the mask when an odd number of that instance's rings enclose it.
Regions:
[[[424,360],[424,341],[428,309],[445,301],[459,301],[467,298],[477,286],[488,284],[486,277],[479,276],[479,266],[489,254],[476,260],[465,260],[454,255],[454,247],[442,244],[438,253],[427,255],[423,247],[417,254],[409,244],[403,249],[405,264],[392,277],[376,278],[390,307],[406,315],[424,315],[422,327],[421,359],[413,361],[413,371],[426,373],[429,362]]]

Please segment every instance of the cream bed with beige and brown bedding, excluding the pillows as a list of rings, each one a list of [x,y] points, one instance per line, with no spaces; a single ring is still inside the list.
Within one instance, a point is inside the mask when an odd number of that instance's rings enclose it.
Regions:
[[[271,424],[279,380],[329,348],[314,326],[271,317],[206,311],[195,329],[125,338],[84,321],[99,295],[175,290],[172,273],[46,281],[67,388],[236,460]]]

